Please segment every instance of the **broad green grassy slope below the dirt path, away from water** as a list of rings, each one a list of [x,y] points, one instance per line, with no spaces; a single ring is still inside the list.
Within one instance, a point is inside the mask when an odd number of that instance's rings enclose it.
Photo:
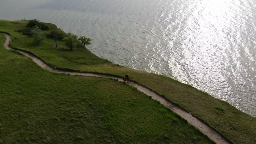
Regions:
[[[50,73],[3,47],[0,143],[211,144],[147,95],[115,80]]]

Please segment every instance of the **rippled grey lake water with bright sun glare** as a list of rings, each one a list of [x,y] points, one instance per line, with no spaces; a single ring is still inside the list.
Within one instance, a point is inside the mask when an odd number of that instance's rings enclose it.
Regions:
[[[256,116],[255,0],[0,0],[0,19],[24,18],[90,37],[100,57]]]

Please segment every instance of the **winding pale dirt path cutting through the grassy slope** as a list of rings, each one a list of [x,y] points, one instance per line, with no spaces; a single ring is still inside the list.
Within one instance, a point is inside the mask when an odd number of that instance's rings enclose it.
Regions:
[[[10,41],[11,41],[11,36],[9,34],[3,33],[6,37],[6,40],[4,42],[4,47],[7,50],[12,49],[10,47]],[[35,55],[32,55],[30,53],[27,52],[22,52],[19,50],[16,50],[20,53],[22,53],[23,55],[31,58],[37,65],[39,65],[40,67],[47,69],[51,72],[54,73],[64,73],[64,74],[70,74],[70,75],[81,75],[81,76],[96,76],[96,77],[104,77],[104,78],[112,78],[112,79],[117,79],[120,82],[123,82],[124,80],[120,77],[115,77],[115,76],[108,76],[108,75],[104,75],[104,74],[93,74],[93,73],[79,73],[79,72],[68,72],[68,71],[61,71],[61,70],[55,70],[51,67],[49,67],[48,65],[46,65],[44,63],[44,61],[38,59]],[[190,113],[184,111],[183,109],[177,107],[176,105],[170,103],[169,101],[165,100],[163,97],[161,97],[160,94],[153,92],[152,90],[150,90],[148,87],[146,86],[142,86],[140,84],[137,84],[135,82],[131,82],[129,83],[130,85],[136,87],[140,92],[143,92],[145,94],[147,94],[148,96],[151,96],[153,100],[157,100],[159,101],[161,104],[163,104],[164,106],[170,108],[172,111],[174,111],[175,113],[177,113],[178,115],[180,115],[181,117],[183,117],[184,119],[186,119],[188,121],[189,124],[192,124],[193,126],[195,126],[196,128],[198,128],[201,132],[203,132],[205,135],[207,135],[210,139],[212,139],[213,141],[215,141],[217,144],[231,144],[225,137],[223,137],[218,131],[216,131],[215,129],[213,129],[212,127],[204,124],[202,121],[200,121],[199,119],[197,119],[195,116],[192,116]]]

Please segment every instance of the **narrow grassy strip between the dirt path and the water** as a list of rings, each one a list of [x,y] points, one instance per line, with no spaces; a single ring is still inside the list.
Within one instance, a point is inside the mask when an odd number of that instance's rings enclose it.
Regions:
[[[204,119],[235,143],[252,144],[256,141],[256,118],[237,110],[227,102],[213,98],[189,85],[171,78],[149,74],[112,64],[100,59],[86,49],[75,49],[73,52],[53,49],[52,40],[45,40],[38,47],[32,46],[27,36],[14,32],[25,25],[21,21],[0,21],[0,30],[12,34],[12,45],[29,50],[43,58],[48,64],[61,68],[72,68],[82,71],[110,73],[119,76],[128,74],[131,79],[156,90],[170,100],[180,104],[191,113]],[[17,39],[14,39],[16,37]],[[218,110],[222,109],[222,110]]]

